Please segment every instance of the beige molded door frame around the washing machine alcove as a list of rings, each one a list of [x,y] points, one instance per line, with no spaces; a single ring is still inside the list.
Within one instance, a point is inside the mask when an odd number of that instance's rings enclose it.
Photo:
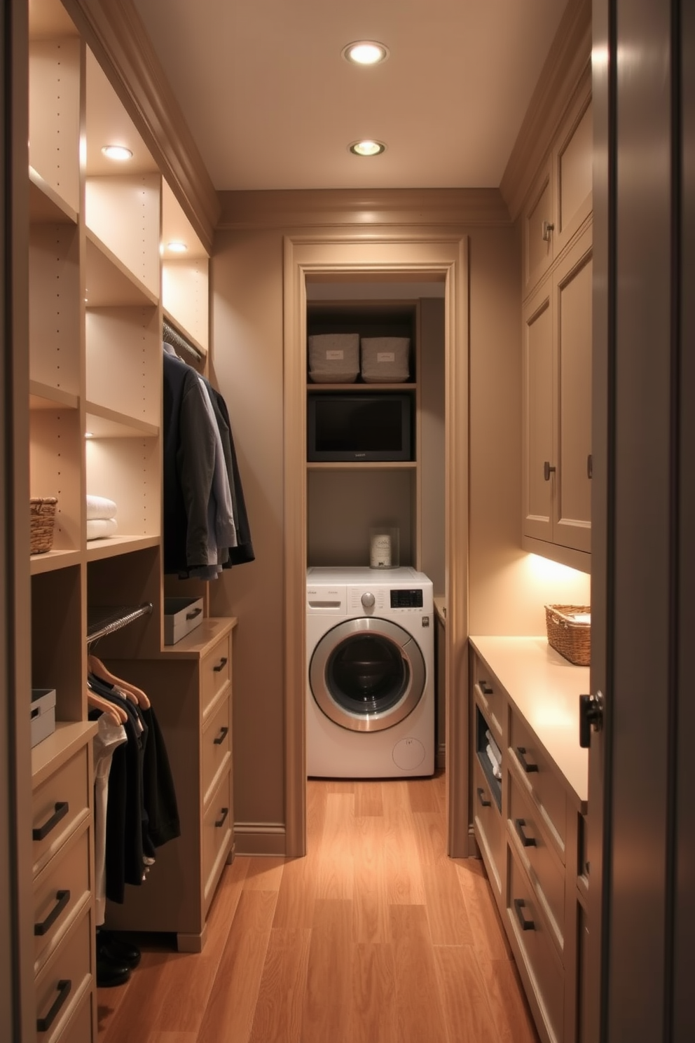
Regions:
[[[306,278],[445,284],[446,758],[448,853],[468,835],[468,238],[413,228],[322,229],[284,237],[286,854],[306,853]]]

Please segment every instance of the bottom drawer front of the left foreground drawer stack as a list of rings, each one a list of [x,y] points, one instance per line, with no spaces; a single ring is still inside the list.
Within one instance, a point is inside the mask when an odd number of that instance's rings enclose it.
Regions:
[[[36,977],[38,1043],[57,1040],[76,1011],[77,996],[90,976],[91,945],[92,920],[85,913]]]

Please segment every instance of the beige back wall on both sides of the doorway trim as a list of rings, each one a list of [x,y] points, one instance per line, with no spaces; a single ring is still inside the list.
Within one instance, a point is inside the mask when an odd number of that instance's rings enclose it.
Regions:
[[[267,196],[270,208],[274,194]],[[256,552],[255,562],[214,583],[210,596],[214,613],[240,620],[233,727],[242,850],[254,849],[254,836],[256,850],[272,850],[264,827],[280,844],[284,821],[282,237],[301,231],[263,227],[257,205],[255,229],[218,232],[212,266],[213,377],[229,407]],[[471,632],[539,633],[544,602],[573,601],[588,579],[535,578],[520,549],[519,241],[511,222],[489,213],[481,220],[447,227],[467,234],[470,245]]]

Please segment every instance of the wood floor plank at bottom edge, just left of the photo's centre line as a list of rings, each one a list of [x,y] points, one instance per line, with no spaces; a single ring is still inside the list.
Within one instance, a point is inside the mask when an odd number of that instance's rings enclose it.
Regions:
[[[352,1043],[351,972],[352,902],[317,899],[302,1015],[302,1043]]]

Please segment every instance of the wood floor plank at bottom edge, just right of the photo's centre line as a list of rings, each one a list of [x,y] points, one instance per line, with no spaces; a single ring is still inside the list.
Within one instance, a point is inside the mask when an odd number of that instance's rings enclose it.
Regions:
[[[358,942],[352,956],[351,1043],[400,1043],[393,948]]]

